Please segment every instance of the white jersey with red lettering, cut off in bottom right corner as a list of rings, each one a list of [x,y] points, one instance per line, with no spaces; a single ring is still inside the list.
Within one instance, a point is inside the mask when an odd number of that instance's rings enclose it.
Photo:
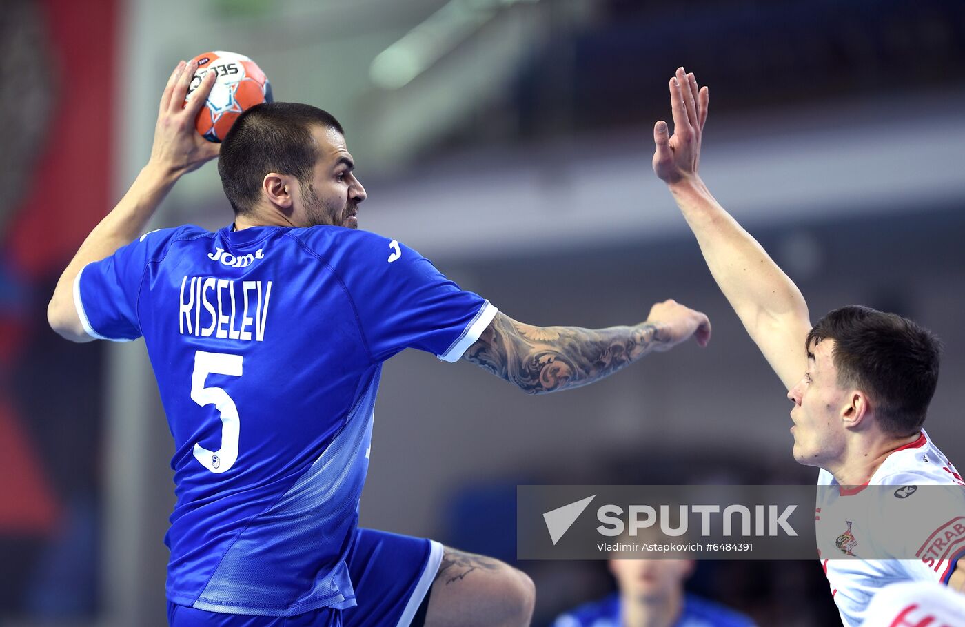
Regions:
[[[961,627],[965,594],[931,582],[885,586],[868,606],[864,627]]]

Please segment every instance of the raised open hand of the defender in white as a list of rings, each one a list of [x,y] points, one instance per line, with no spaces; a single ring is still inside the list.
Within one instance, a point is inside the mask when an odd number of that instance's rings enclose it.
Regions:
[[[653,172],[667,184],[697,177],[710,95],[706,87],[697,85],[693,72],[688,74],[677,68],[676,76],[670,80],[670,97],[674,134],[670,135],[662,120],[653,126]]]

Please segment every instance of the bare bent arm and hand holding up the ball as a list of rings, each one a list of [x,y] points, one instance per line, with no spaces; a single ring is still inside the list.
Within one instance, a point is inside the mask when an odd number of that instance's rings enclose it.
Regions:
[[[105,259],[144,231],[154,211],[180,177],[197,170],[218,154],[218,144],[204,139],[194,119],[214,85],[215,72],[207,72],[201,86],[182,106],[197,65],[179,63],[161,95],[154,128],[151,159],[134,180],[121,202],[108,213],[81,244],[61,275],[47,306],[51,328],[70,341],[91,341],[73,303],[73,281],[92,261]]]

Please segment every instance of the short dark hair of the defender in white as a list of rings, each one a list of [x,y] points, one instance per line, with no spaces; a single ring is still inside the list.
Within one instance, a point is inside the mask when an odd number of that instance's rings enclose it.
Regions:
[[[885,433],[921,430],[938,385],[942,344],[934,333],[898,314],[849,305],[817,321],[808,350],[825,339],[835,341],[838,384],[869,395]]]

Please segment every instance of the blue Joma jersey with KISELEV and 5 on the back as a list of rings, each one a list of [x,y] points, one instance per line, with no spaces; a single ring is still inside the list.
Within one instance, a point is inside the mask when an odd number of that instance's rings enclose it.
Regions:
[[[346,552],[381,364],[458,360],[496,314],[371,232],[150,232],[74,283],[88,334],[143,336],[176,452],[167,597],[209,612],[355,605]]]

